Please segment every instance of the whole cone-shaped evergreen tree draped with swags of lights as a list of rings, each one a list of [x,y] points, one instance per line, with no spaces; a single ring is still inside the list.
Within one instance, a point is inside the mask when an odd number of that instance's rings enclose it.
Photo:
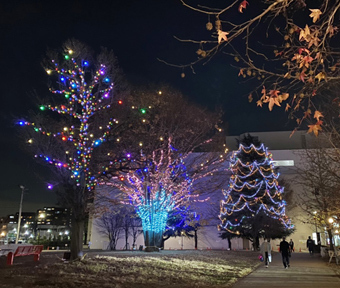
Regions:
[[[285,214],[284,188],[264,144],[246,135],[230,157],[230,170],[219,215],[222,238],[245,237],[257,249],[260,237],[289,235],[293,227]]]

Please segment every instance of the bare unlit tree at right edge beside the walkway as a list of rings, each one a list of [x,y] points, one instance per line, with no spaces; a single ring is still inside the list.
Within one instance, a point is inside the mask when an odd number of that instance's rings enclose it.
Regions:
[[[298,205],[307,223],[325,229],[333,249],[333,225],[340,224],[340,154],[337,149],[316,148],[299,152],[296,183],[302,187]]]

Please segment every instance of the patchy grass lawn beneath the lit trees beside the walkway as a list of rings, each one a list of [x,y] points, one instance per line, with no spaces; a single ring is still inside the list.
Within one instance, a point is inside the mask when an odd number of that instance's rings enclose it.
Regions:
[[[83,261],[63,263],[58,254],[43,253],[39,264],[29,257],[15,258],[13,266],[1,261],[0,287],[230,287],[259,265],[257,254],[210,250],[90,252]]]

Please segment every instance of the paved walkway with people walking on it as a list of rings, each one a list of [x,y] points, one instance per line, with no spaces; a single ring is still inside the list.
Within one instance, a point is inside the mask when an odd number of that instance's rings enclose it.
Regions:
[[[328,258],[321,258],[320,254],[311,257],[308,253],[295,252],[290,258],[290,268],[288,269],[283,267],[281,254],[274,252],[272,258],[273,262],[270,263],[268,268],[261,263],[258,269],[240,279],[232,288],[340,287],[340,266],[328,264]]]

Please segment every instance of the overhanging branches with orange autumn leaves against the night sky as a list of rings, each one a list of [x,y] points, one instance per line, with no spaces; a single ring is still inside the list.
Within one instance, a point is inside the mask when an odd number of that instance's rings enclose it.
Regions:
[[[284,105],[298,127],[306,122],[315,135],[333,128],[338,133],[331,118],[323,125],[323,117],[330,106],[339,114],[339,0],[180,1],[206,22],[197,25],[200,39],[176,37],[196,47],[192,61],[163,62],[191,71],[223,51],[234,59],[240,78],[250,80],[250,102],[257,98],[257,105],[269,110]]]

